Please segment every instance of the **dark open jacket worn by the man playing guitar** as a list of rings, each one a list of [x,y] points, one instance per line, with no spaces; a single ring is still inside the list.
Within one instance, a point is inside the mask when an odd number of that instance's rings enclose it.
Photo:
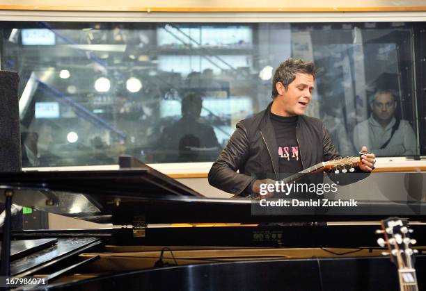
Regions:
[[[256,179],[278,180],[278,146],[269,117],[270,108],[271,104],[257,115],[238,122],[226,148],[210,169],[210,185],[245,196],[249,193],[243,191]],[[303,169],[340,158],[329,132],[317,118],[299,116],[297,142]]]

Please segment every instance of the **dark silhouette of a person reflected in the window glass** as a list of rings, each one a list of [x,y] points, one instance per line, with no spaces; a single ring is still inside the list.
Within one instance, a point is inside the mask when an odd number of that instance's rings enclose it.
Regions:
[[[164,162],[207,161],[221,150],[213,127],[200,122],[203,105],[198,93],[186,94],[182,99],[182,118],[164,128],[158,147],[165,151]]]

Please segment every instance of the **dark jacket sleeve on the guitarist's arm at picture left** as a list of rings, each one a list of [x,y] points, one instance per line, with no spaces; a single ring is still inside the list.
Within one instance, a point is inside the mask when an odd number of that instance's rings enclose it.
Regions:
[[[254,177],[237,173],[246,163],[248,154],[247,131],[239,122],[225,149],[210,169],[210,185],[231,194],[241,194],[255,180]]]

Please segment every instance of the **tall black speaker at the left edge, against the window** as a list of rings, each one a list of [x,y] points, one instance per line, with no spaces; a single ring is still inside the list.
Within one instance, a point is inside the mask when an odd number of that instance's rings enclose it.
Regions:
[[[18,83],[16,72],[0,71],[0,172],[22,167]]]

